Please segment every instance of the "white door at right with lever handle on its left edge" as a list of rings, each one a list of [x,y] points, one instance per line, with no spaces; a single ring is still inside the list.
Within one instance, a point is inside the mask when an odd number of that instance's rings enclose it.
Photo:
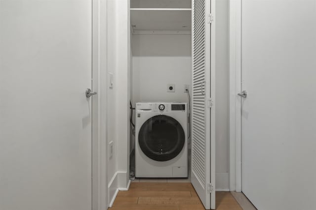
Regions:
[[[316,209],[316,0],[242,0],[242,192]]]

